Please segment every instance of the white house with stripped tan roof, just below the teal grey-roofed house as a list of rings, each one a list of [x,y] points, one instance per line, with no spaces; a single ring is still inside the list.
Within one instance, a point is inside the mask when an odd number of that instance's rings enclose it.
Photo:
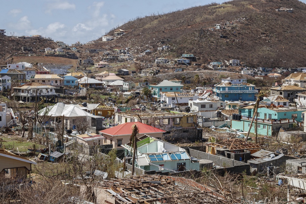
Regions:
[[[176,95],[176,97],[175,97]],[[177,98],[177,100],[176,100]],[[171,105],[172,102],[174,104],[178,103],[189,103],[190,100],[198,99],[198,95],[192,93],[180,93],[180,92],[162,92],[160,95],[160,100],[164,103]]]

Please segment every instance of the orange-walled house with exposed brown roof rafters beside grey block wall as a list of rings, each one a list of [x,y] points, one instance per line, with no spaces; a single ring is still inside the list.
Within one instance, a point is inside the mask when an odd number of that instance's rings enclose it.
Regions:
[[[228,139],[206,145],[206,153],[247,162],[251,154],[263,149],[262,145],[245,142],[244,139]]]

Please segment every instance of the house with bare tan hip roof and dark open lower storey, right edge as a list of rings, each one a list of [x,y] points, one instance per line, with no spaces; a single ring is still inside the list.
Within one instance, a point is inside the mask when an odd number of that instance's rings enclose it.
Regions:
[[[297,98],[297,94],[304,91],[306,91],[306,88],[286,85],[286,86],[270,88],[270,95],[271,96],[280,95],[283,98],[288,99],[290,102],[293,102],[294,98]]]

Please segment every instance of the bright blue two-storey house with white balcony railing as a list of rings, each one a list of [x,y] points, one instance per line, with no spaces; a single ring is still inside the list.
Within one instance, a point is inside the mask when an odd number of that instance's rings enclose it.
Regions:
[[[215,85],[214,92],[221,101],[255,101],[258,90],[250,83],[221,82]]]

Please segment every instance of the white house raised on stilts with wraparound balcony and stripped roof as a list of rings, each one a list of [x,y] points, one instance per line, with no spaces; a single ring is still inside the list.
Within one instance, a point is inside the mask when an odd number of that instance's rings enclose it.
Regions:
[[[23,85],[13,87],[13,90],[14,97],[19,97],[19,99],[24,102],[35,102],[36,97],[37,101],[45,99],[46,103],[48,100],[55,103],[56,98],[58,101],[58,95],[55,93],[55,87],[39,82],[25,83]]]

